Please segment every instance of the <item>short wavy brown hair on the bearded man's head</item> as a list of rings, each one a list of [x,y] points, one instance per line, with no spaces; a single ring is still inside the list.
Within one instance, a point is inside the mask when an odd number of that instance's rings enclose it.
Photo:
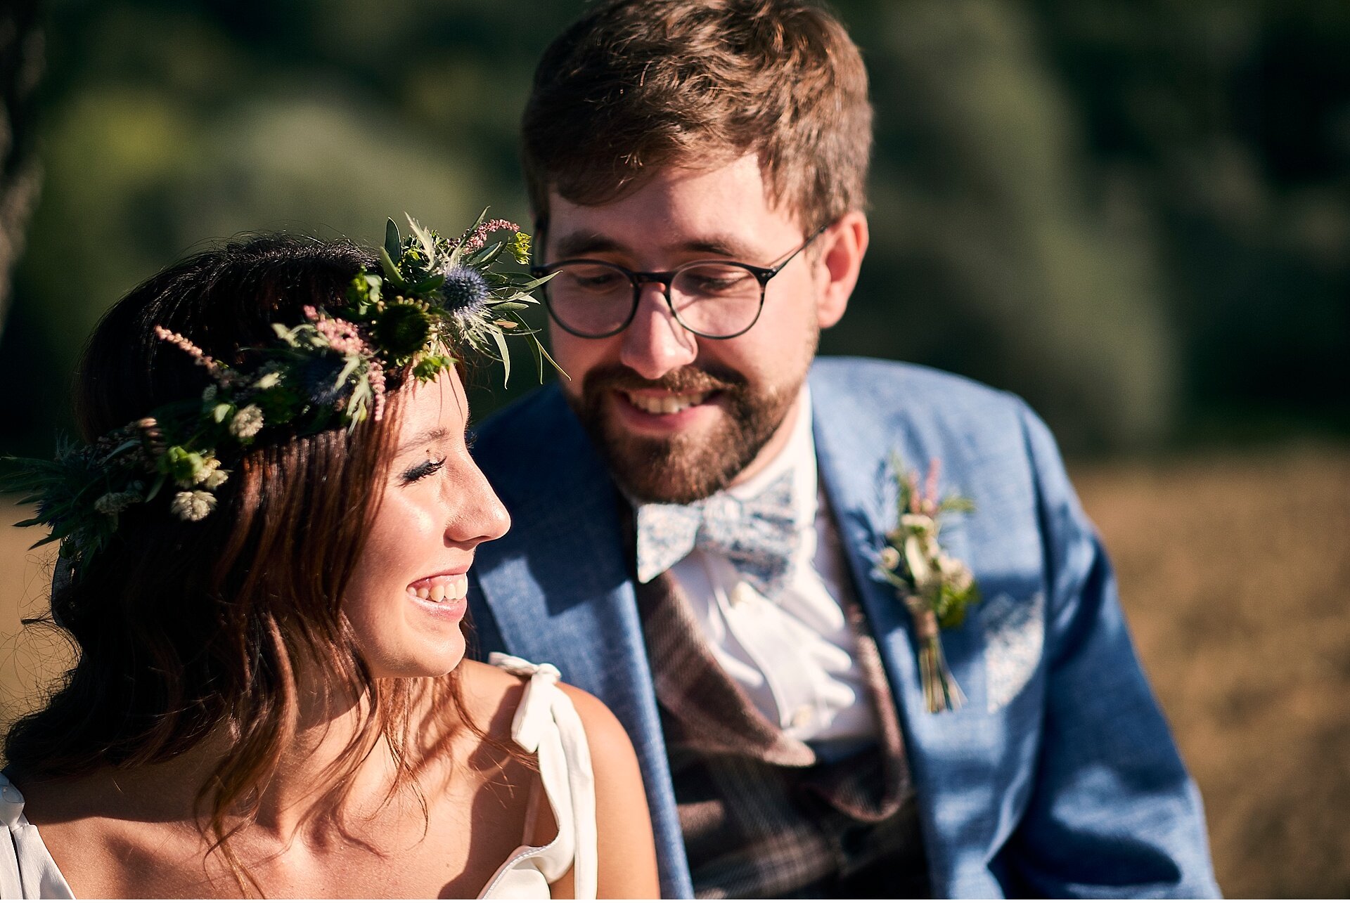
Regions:
[[[805,228],[864,207],[867,70],[806,0],[612,0],[544,51],[522,119],[531,204],[605,204],[668,166],[756,154]]]

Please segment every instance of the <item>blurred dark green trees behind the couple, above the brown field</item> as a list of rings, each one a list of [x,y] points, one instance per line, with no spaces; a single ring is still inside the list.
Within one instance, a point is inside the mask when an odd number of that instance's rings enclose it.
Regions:
[[[836,5],[878,153],[825,351],[1023,394],[1071,451],[1350,429],[1350,4]],[[204,240],[526,217],[517,119],[583,7],[50,0],[0,447],[50,445],[100,313]]]

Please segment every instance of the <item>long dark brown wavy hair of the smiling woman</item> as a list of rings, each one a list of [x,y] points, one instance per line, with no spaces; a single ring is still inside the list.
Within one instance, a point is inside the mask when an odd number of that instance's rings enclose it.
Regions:
[[[99,324],[78,370],[85,440],[207,387],[205,371],[158,339],[157,325],[236,363],[240,348],[274,341],[271,323],[302,321],[305,305],[340,305],[352,277],[373,266],[350,243],[265,236],[197,254],[132,289]],[[360,728],[329,772],[333,806],[381,737],[398,763],[396,786],[416,787],[418,763],[435,752],[428,742],[444,742],[452,725],[482,736],[455,672],[377,682],[340,611],[397,433],[400,374],[389,377],[381,422],[266,443],[227,462],[234,472],[205,520],[186,522],[159,505],[122,514],[109,545],[53,595],[53,621],[78,657],[49,703],[9,730],[11,768],[88,775],[166,761],[223,736],[196,806],[246,891],[228,837],[250,823],[293,736],[301,672],[335,705],[364,701]],[[414,711],[435,722],[413,723]]]

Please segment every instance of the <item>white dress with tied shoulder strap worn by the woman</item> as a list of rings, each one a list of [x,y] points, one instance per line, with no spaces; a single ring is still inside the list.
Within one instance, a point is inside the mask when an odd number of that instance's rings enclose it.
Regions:
[[[558,836],[543,846],[521,844],[502,863],[479,899],[548,899],[548,885],[574,868],[578,900],[595,899],[595,776],[586,732],[571,699],[558,688],[558,668],[494,652],[497,667],[529,678],[510,736],[539,756],[543,792]],[[536,811],[531,806],[531,811]],[[0,773],[0,899],[73,900],[74,894],[47,852],[38,827],[23,815],[23,794]],[[525,826],[525,838],[533,825]]]

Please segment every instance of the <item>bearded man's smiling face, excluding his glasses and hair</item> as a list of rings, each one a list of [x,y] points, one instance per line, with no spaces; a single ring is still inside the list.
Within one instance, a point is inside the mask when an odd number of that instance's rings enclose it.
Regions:
[[[586,259],[636,273],[691,262],[770,267],[802,246],[803,224],[765,194],[759,161],[666,169],[606,204],[549,196],[545,263]],[[829,232],[822,236],[829,238]],[[759,320],[729,339],[684,328],[664,283],[644,281],[629,324],[586,339],[556,324],[563,391],[614,478],[640,501],[693,501],[745,479],[782,447],[822,327],[824,254],[807,248],[764,288]]]

